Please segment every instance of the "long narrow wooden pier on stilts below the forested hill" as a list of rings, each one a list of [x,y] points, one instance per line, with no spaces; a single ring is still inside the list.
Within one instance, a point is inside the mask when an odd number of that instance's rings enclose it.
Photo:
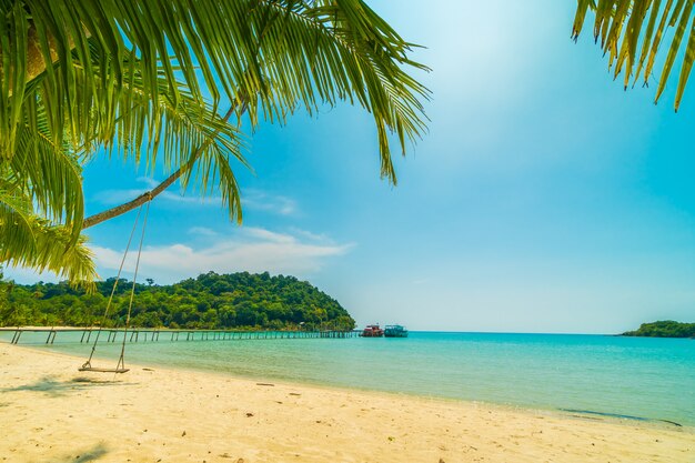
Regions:
[[[44,333],[46,344],[53,344],[58,333],[78,333],[80,343],[89,343],[98,333],[100,342],[158,342],[158,341],[242,341],[242,340],[278,340],[278,339],[343,339],[354,338],[356,330],[321,330],[321,331],[233,331],[233,330],[168,330],[143,329],[129,330],[104,328],[0,328],[0,333],[11,332],[11,344],[19,344],[23,333]],[[105,335],[105,338],[104,338]],[[41,338],[43,339],[43,338]],[[69,342],[77,342],[75,340]]]

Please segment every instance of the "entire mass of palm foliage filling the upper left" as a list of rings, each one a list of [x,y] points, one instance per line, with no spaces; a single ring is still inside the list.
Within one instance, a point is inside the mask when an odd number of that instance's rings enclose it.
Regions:
[[[138,202],[84,221],[81,165],[102,149],[171,173],[139,201],[192,182],[241,221],[242,114],[253,130],[360,104],[393,183],[390,135],[405,153],[425,130],[429,91],[409,72],[426,68],[362,0],[0,0],[0,263],[93,278],[80,231]]]

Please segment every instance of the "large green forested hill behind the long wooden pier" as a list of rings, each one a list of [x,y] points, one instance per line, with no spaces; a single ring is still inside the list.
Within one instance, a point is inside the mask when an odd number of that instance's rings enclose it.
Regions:
[[[67,283],[3,283],[0,325],[89,326],[102,321],[115,279],[97,291]],[[121,279],[105,326],[122,326],[132,282]],[[354,320],[338,301],[294,276],[204,273],[172,285],[152,280],[135,285],[131,326],[191,329],[353,329]]]

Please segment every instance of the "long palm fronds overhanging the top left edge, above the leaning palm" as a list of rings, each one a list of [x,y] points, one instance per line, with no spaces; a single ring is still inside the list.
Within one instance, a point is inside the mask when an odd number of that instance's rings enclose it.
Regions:
[[[163,77],[178,104],[181,80],[199,101],[209,91],[213,109],[223,95],[244,98],[253,124],[282,122],[300,105],[313,112],[356,102],[374,118],[382,174],[391,181],[389,134],[405,150],[425,129],[420,100],[427,90],[406,72],[425,68],[361,0],[0,0],[0,37],[12,38],[0,41],[4,158],[13,153],[26,102],[37,99],[48,108],[54,142],[68,133],[73,145],[114,143],[121,114],[110,97],[127,91],[128,52],[142,62],[144,99],[159,100]],[[40,84],[28,84],[39,76]],[[134,133],[139,123],[120,125]],[[134,144],[135,157],[143,151]]]

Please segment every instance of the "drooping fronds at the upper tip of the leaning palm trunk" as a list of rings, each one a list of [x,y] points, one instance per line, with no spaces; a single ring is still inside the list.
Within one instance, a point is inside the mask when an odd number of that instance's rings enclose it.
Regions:
[[[121,117],[113,128],[117,143],[111,144],[112,150],[144,162],[149,170],[154,165],[163,168],[165,173],[183,169],[184,190],[193,181],[191,187],[202,193],[220,191],[230,218],[241,222],[241,199],[231,173],[231,161],[251,169],[243,155],[242,133],[226,118],[213,112],[209,103],[198,101],[183,82],[174,82],[178,85],[174,99],[170,82],[160,76],[158,101],[148,100],[140,72],[141,60],[132,56],[128,59],[130,81],[123,92],[114,95],[119,98],[115,104]],[[143,127],[149,127],[147,137]],[[147,145],[142,160],[138,155],[141,145]]]

